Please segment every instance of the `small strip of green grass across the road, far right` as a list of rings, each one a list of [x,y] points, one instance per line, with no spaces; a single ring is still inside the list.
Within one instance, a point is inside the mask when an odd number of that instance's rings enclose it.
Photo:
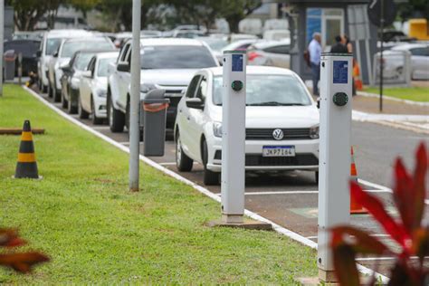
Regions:
[[[366,92],[380,94],[378,88],[367,88]],[[383,89],[383,95],[390,96],[400,100],[413,100],[420,102],[429,102],[428,88],[387,88]]]

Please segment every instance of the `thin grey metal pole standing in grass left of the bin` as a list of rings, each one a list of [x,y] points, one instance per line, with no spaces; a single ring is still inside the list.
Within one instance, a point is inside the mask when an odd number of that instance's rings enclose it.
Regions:
[[[140,14],[141,0],[132,2],[131,95],[129,99],[129,190],[138,192],[140,129]]]

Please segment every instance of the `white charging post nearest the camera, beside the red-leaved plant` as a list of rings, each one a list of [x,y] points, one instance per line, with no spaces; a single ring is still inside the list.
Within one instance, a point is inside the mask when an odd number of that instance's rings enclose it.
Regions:
[[[335,281],[329,229],[348,224],[352,54],[322,53],[320,61],[319,280]]]

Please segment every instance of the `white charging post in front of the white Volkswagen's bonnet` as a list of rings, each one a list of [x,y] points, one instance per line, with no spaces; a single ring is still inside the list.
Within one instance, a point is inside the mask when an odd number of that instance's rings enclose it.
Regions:
[[[243,224],[246,62],[245,52],[224,52],[221,178],[224,224]]]

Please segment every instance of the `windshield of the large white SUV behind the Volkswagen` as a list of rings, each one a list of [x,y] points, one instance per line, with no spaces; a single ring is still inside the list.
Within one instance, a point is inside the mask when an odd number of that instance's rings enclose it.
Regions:
[[[204,69],[215,67],[216,62],[202,46],[147,46],[142,48],[141,69]]]

